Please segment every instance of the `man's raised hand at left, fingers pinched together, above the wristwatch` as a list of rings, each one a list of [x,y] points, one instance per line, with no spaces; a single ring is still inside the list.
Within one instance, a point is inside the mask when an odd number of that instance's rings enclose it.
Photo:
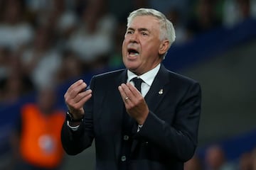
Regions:
[[[86,87],[87,84],[80,79],[72,84],[64,95],[65,103],[67,104],[68,110],[73,115],[74,119],[82,118],[85,114],[83,105],[92,96],[92,90],[88,89],[85,91]]]

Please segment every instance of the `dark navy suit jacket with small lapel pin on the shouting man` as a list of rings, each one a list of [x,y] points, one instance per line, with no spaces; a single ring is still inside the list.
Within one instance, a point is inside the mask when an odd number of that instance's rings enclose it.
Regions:
[[[68,154],[82,152],[95,139],[96,169],[122,169],[124,103],[117,87],[126,81],[127,69],[92,77],[83,123],[75,132],[63,124],[61,140]],[[145,100],[149,115],[139,132],[134,123],[127,169],[183,169],[197,145],[201,87],[161,64]]]

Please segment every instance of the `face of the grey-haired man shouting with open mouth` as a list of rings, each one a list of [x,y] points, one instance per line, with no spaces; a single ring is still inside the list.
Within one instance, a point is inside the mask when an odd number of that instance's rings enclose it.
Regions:
[[[127,69],[141,75],[161,62],[159,28],[159,21],[154,16],[136,16],[131,21],[122,44],[122,58]]]

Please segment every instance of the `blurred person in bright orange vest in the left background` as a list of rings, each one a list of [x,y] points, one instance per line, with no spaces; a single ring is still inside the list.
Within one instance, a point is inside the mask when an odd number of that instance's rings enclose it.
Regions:
[[[21,107],[16,132],[12,138],[15,170],[55,170],[63,162],[63,147],[60,130],[65,113],[55,107],[52,89],[43,89],[38,94],[37,103],[27,103]],[[18,151],[18,152],[17,152]]]

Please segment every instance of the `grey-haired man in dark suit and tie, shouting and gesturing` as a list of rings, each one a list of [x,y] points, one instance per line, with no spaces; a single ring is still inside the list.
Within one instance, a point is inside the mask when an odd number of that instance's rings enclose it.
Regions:
[[[62,142],[78,154],[95,139],[96,169],[183,169],[197,145],[201,88],[167,70],[175,40],[163,13],[139,8],[127,19],[126,69],[78,80],[65,93]]]

